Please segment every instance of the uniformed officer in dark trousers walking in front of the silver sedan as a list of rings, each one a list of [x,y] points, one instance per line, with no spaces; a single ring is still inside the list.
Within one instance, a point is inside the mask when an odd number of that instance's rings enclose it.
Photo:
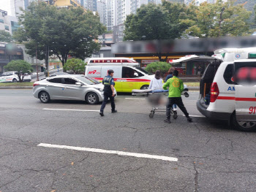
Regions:
[[[103,111],[105,109],[106,103],[108,102],[108,98],[111,101],[111,111],[112,113],[117,112],[116,104],[114,101],[114,79],[113,79],[114,71],[112,69],[108,70],[108,76],[104,77],[102,80],[102,84],[104,85],[104,100],[102,102],[102,107],[100,108],[99,115],[104,116]]]

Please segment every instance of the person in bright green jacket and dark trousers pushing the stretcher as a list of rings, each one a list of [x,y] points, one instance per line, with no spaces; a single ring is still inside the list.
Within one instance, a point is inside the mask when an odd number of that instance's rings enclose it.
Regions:
[[[187,112],[186,108],[181,99],[181,93],[184,90],[183,81],[178,79],[178,71],[175,70],[173,72],[173,78],[170,78],[165,82],[163,88],[167,90],[169,88],[169,96],[168,96],[168,103],[166,105],[166,120],[165,123],[170,123],[170,110],[173,104],[177,104],[178,108],[184,112],[184,115],[187,117],[188,121],[192,121],[192,118],[189,117],[189,113]]]

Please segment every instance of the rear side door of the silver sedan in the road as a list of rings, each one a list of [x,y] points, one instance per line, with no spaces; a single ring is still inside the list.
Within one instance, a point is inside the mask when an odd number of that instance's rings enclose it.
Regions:
[[[63,99],[64,84],[62,84],[61,77],[53,77],[48,80],[46,89],[51,99]]]

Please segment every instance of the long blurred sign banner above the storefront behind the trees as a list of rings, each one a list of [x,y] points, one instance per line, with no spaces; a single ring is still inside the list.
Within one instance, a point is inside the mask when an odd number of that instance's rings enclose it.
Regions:
[[[153,41],[117,42],[113,54],[214,52],[221,48],[256,47],[256,37],[220,37]]]

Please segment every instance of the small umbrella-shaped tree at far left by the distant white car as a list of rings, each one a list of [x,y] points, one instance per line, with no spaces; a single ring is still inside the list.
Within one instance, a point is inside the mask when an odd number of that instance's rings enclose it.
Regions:
[[[10,71],[18,72],[17,74],[20,82],[23,82],[23,79],[26,73],[33,72],[33,68],[31,67],[31,64],[23,60],[10,61],[10,63],[7,64],[7,66],[4,66],[4,69],[7,70],[7,72],[10,72]]]

